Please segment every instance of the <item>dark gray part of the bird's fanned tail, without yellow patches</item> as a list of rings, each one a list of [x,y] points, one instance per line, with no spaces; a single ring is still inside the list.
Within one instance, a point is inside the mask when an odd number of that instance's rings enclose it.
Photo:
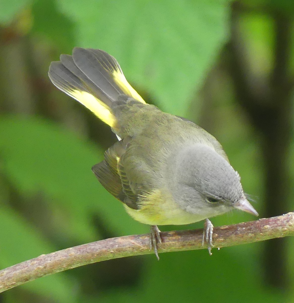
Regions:
[[[114,81],[113,72],[123,74],[111,55],[98,49],[74,48],[71,56],[61,55],[60,61],[51,63],[48,75],[68,95],[74,90],[85,91],[112,108],[117,97],[125,94]]]

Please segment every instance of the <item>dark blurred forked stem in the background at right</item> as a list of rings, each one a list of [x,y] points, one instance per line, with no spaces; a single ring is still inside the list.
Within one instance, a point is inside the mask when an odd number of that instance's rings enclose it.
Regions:
[[[261,148],[265,162],[266,217],[286,211],[289,201],[288,149],[292,135],[293,82],[289,79],[291,20],[280,12],[269,12],[275,24],[274,65],[267,79],[256,79],[246,62],[246,48],[238,31],[243,8],[239,2],[232,5],[231,41],[227,60],[237,100],[252,118],[261,135]],[[279,202],[278,202],[279,201]],[[289,279],[284,239],[266,242],[265,278],[278,288],[287,288]]]

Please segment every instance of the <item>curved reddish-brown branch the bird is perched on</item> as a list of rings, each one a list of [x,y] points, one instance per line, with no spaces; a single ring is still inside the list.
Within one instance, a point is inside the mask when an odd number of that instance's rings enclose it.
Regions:
[[[225,247],[291,235],[294,235],[293,212],[273,218],[215,227],[213,242],[215,247]],[[201,246],[202,229],[162,232],[161,238],[159,253],[205,248]],[[2,269],[0,292],[78,266],[152,253],[153,251],[149,250],[148,234],[110,238],[70,247]]]

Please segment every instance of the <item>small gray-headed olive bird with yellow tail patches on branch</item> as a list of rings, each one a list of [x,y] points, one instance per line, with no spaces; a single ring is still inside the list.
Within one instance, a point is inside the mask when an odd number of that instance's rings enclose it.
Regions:
[[[202,245],[205,240],[211,255],[209,218],[233,209],[258,216],[217,139],[188,119],[147,104],[113,56],[76,47],[51,62],[48,75],[116,134],[118,141],[92,171],[132,218],[150,225],[150,247],[158,260],[158,225],[205,220]]]

